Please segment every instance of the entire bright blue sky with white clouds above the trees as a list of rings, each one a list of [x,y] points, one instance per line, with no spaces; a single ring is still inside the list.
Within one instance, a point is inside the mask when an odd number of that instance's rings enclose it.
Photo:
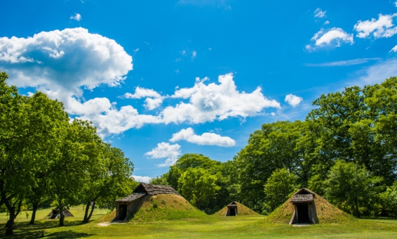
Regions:
[[[231,160],[267,122],[397,75],[396,1],[4,1],[0,69],[135,164]],[[149,178],[148,178],[149,177]]]

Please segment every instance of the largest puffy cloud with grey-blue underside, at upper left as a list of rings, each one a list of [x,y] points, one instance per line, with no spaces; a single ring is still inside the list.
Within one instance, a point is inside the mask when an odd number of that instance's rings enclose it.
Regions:
[[[20,87],[43,86],[81,96],[81,86],[120,84],[133,69],[132,60],[116,41],[81,27],[0,38],[0,67]]]

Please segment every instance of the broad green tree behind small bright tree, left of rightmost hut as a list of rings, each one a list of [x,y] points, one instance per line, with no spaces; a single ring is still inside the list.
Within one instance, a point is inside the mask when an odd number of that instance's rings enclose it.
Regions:
[[[261,130],[250,134],[248,145],[234,157],[238,169],[240,197],[248,207],[262,212],[264,184],[276,169],[288,169],[307,181],[310,156],[306,122],[274,122],[263,124]]]

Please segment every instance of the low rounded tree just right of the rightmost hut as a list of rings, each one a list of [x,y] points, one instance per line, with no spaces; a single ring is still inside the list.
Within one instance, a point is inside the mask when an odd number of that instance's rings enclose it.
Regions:
[[[372,176],[365,167],[337,160],[328,173],[325,197],[345,212],[360,217],[361,208],[369,206],[381,181],[382,178]]]

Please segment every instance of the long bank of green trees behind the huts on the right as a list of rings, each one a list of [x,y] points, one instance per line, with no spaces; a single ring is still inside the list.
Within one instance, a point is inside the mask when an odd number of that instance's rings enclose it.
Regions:
[[[320,96],[306,120],[263,124],[233,160],[185,154],[151,183],[213,213],[268,214],[306,187],[356,217],[397,217],[397,77]]]

